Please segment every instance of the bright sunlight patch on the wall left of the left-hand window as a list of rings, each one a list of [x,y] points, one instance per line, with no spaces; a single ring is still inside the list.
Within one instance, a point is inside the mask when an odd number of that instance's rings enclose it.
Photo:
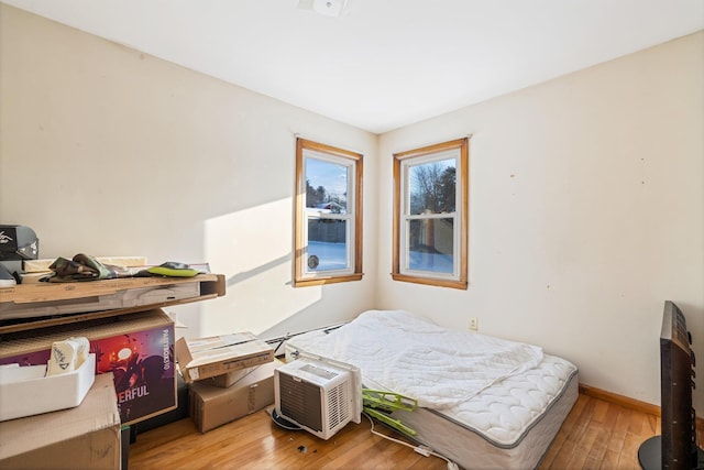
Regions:
[[[204,230],[206,260],[227,294],[202,303],[199,336],[258,334],[321,299],[321,287],[292,286],[290,198],[209,219]]]

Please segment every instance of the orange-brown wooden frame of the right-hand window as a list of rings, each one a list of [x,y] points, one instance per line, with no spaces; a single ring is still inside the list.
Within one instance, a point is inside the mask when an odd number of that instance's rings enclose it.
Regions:
[[[393,259],[392,259],[392,278],[394,281],[402,282],[410,282],[417,284],[426,284],[426,285],[435,285],[440,287],[451,287],[451,288],[460,288],[466,289],[468,282],[468,265],[469,265],[469,256],[468,256],[468,247],[469,247],[469,146],[470,139],[463,138],[458,139],[444,143],[439,143],[435,145],[429,145],[420,149],[410,150],[407,152],[400,152],[394,154],[394,223],[393,223]],[[405,225],[402,227],[402,218],[408,217],[405,215],[405,197],[402,192],[408,184],[405,181],[406,175],[404,175],[404,167],[414,159],[426,159],[432,156],[433,154],[441,154],[448,151],[459,150],[458,163],[459,167],[457,168],[457,182],[455,182],[455,192],[459,193],[457,200],[457,209],[455,214],[459,218],[459,227],[455,230],[459,230],[459,240],[455,250],[457,254],[453,256],[453,260],[457,260],[458,270],[457,274],[453,273],[452,276],[448,275],[433,275],[432,272],[419,272],[415,271],[414,274],[409,274],[405,272],[400,267],[402,247],[405,247],[405,243],[402,242],[402,237],[406,237]],[[404,253],[405,255],[406,253]],[[419,274],[424,273],[424,274]],[[427,273],[427,274],[425,274]]]

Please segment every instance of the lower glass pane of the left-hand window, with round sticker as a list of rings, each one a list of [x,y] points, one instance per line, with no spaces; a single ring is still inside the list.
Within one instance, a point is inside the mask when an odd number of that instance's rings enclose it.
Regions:
[[[308,271],[344,270],[348,264],[346,220],[308,219]]]

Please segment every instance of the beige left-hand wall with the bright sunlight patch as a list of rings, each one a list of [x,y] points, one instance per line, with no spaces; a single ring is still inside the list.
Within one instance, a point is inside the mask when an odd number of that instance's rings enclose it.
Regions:
[[[209,262],[228,295],[187,335],[296,332],[374,307],[377,138],[0,6],[0,220],[42,258]],[[296,135],[365,159],[361,282],[294,289]]]

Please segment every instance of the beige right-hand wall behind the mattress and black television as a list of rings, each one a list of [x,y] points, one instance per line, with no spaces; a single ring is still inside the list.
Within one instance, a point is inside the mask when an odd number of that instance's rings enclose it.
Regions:
[[[704,358],[703,84],[698,33],[382,135],[378,306],[477,317],[659,403],[664,299]],[[466,134],[470,287],[393,282],[391,155]]]

